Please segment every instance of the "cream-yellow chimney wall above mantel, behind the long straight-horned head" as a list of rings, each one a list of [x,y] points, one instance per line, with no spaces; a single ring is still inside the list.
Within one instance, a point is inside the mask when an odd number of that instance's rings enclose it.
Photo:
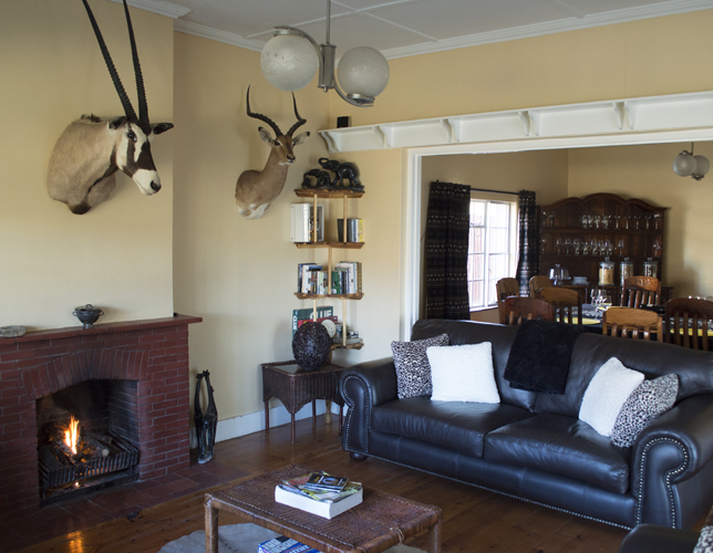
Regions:
[[[92,7],[137,108],[123,8]],[[173,22],[132,17],[152,121],[173,121]],[[173,132],[153,145],[163,181],[154,196],[120,175],[108,201],[76,216],[46,192],[64,127],[84,113],[123,115],[81,2],[2,1],[0,106],[0,326],[74,326],[73,309],[86,303],[104,310],[101,322],[170,316]]]

